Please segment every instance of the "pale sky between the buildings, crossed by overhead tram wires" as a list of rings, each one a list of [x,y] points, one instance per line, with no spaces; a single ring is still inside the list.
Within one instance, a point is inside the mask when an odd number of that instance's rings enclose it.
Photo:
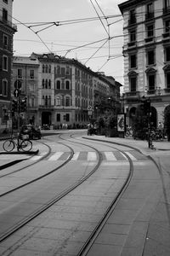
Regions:
[[[123,84],[122,15],[118,8],[123,2],[14,0],[13,23],[18,29],[14,55],[54,52]]]

